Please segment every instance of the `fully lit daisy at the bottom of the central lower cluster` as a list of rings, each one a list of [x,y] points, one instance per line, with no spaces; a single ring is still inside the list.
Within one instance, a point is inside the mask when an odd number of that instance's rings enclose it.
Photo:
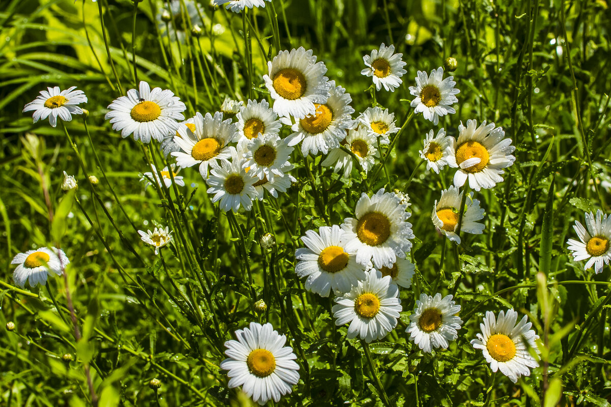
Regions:
[[[358,336],[369,343],[382,339],[397,326],[401,312],[401,300],[396,284],[390,276],[382,277],[378,270],[365,273],[365,279],[358,281],[350,292],[335,298],[332,308],[335,325],[348,326],[348,339]]]

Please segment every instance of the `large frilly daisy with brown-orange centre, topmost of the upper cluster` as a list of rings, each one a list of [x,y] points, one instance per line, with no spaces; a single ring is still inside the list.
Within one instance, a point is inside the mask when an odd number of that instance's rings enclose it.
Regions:
[[[295,120],[316,114],[315,103],[327,103],[331,85],[324,74],[327,67],[316,62],[312,49],[303,47],[280,51],[268,62],[268,73],[263,75],[265,86],[274,99],[274,112]]]

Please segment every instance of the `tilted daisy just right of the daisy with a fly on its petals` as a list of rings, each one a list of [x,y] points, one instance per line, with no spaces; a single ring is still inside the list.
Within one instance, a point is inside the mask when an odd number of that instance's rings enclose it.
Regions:
[[[235,147],[228,146],[238,139],[238,132],[231,119],[223,120],[223,113],[216,112],[202,116],[197,112],[194,117],[195,131],[188,124],[178,128],[174,142],[183,151],[174,151],[172,156],[180,167],[192,167],[199,164],[199,173],[203,179],[208,178],[208,166],[219,159],[229,159],[235,153]]]

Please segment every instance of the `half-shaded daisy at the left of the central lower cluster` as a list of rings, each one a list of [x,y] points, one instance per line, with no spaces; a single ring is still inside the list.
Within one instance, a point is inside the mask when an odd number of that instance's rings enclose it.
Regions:
[[[305,248],[295,252],[295,273],[307,277],[305,289],[329,297],[331,289],[336,295],[348,292],[357,282],[365,279],[365,268],[356,262],[355,252],[345,251],[343,231],[339,226],[321,226],[318,233],[309,230],[301,237]]]

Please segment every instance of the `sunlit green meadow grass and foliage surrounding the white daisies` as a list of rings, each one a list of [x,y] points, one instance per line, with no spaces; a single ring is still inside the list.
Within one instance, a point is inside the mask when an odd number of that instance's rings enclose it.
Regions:
[[[301,367],[299,384],[278,405],[382,405],[375,386],[379,377],[397,406],[609,406],[610,268],[598,275],[584,271],[584,262],[574,262],[566,248],[567,239],[576,239],[574,220],[583,223],[584,211],[609,213],[606,1],[273,0],[280,49],[313,49],[329,79],[351,94],[356,113],[371,106],[370,78],[360,74],[362,56],[382,42],[394,44],[407,62],[401,87],[376,93],[398,126],[411,111],[408,87],[418,70],[455,57],[458,69],[452,74],[461,93],[456,114],[441,118],[439,126],[422,115],[408,124],[389,160],[390,179],[379,176],[366,189],[357,177],[339,178],[321,167],[320,155],[308,168],[296,160],[291,174],[298,182],[279,200],[265,201],[267,214],[241,209],[240,231],[210,203],[196,170],[181,171],[186,187],[172,195],[174,202],[159,198],[153,187],[144,190],[140,174],[150,169],[141,145],[112,131],[104,115],[121,88],[136,87],[134,51],[138,79],[180,96],[185,117],[220,110],[225,96],[246,101],[246,52],[252,53],[257,88],[251,92],[268,97],[262,75],[266,60],[277,54],[271,9],[251,14],[251,32],[258,37],[245,49],[241,15],[222,7],[213,11],[203,0],[202,36],[192,37],[187,29],[185,43],[169,42],[155,17],[163,3],[137,3],[134,20],[130,1],[2,1],[0,322],[15,327],[0,334],[0,405],[90,405],[85,366],[100,406],[249,405],[227,389],[218,367],[222,343],[251,320],[269,320],[287,334]],[[78,116],[67,129],[87,175],[100,178],[97,187],[87,182],[60,125],[32,124],[31,115],[21,112],[40,90],[54,85],[76,85],[89,98],[81,106],[89,110],[90,137]],[[454,171],[438,176],[420,167],[411,183],[408,179],[426,132],[444,127],[456,135],[460,121],[468,119],[502,126],[516,146],[516,162],[504,182],[477,193],[486,209],[484,234],[465,235],[456,253],[448,242],[440,270],[444,240],[430,215]],[[63,171],[79,182],[78,202],[60,205]],[[346,340],[346,328],[335,327],[331,300],[306,292],[293,268],[306,230],[324,225],[324,217],[342,223],[353,215],[361,192],[375,192],[387,182],[408,193],[412,203],[417,273],[412,288],[401,290],[403,322],[370,345],[377,370],[372,371],[359,341]],[[321,196],[324,214],[312,189]],[[46,200],[56,211],[54,223]],[[170,225],[173,205],[189,225],[189,245],[210,290],[201,289],[202,275],[185,266],[178,246],[164,248],[162,262],[139,239],[137,229]],[[276,235],[274,250],[258,245],[263,224]],[[69,290],[83,334],[78,341],[62,320],[69,315],[64,279],[48,283],[62,312],[45,287],[12,285],[13,256],[54,240],[71,261]],[[167,270],[201,310],[199,317],[183,312],[186,301],[177,300]],[[438,273],[441,292],[455,293],[465,323],[448,350],[431,356],[409,342],[404,328],[419,293],[434,294]],[[269,289],[269,279],[277,289]],[[263,314],[253,308],[253,291],[267,304]],[[491,386],[488,365],[469,341],[479,332],[483,312],[507,308],[529,315],[543,343],[541,366],[517,384],[497,374]],[[161,381],[158,390],[148,386],[153,378]]]

